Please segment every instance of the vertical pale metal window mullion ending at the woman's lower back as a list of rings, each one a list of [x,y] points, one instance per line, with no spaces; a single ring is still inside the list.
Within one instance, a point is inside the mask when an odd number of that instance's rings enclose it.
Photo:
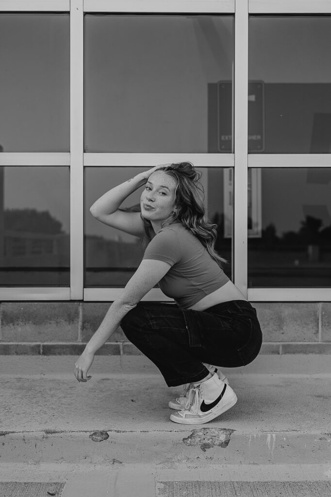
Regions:
[[[248,283],[248,0],[236,0],[234,84],[234,283],[246,296]]]

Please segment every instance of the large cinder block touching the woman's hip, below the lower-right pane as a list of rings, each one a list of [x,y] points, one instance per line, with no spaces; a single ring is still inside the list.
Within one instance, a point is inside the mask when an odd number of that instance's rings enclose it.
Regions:
[[[256,302],[264,341],[318,341],[319,307],[310,302]]]

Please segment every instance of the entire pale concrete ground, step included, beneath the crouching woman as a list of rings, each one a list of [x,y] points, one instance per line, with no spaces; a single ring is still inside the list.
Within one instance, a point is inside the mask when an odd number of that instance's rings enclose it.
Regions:
[[[144,359],[130,371],[97,357],[86,384],[75,359],[1,357],[0,482],[46,482],[51,494],[63,482],[62,497],[330,496],[330,356],[224,369],[238,403],[204,425],[169,420],[180,388]],[[23,495],[12,485],[4,496]]]

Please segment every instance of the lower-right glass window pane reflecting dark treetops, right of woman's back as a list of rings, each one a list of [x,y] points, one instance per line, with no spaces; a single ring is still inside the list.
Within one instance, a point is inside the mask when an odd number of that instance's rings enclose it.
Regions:
[[[331,168],[250,170],[249,287],[331,286]]]

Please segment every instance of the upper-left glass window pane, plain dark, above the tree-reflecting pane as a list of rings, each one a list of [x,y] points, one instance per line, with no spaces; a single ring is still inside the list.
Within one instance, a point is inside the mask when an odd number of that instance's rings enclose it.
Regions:
[[[0,14],[3,152],[68,152],[69,14]]]

